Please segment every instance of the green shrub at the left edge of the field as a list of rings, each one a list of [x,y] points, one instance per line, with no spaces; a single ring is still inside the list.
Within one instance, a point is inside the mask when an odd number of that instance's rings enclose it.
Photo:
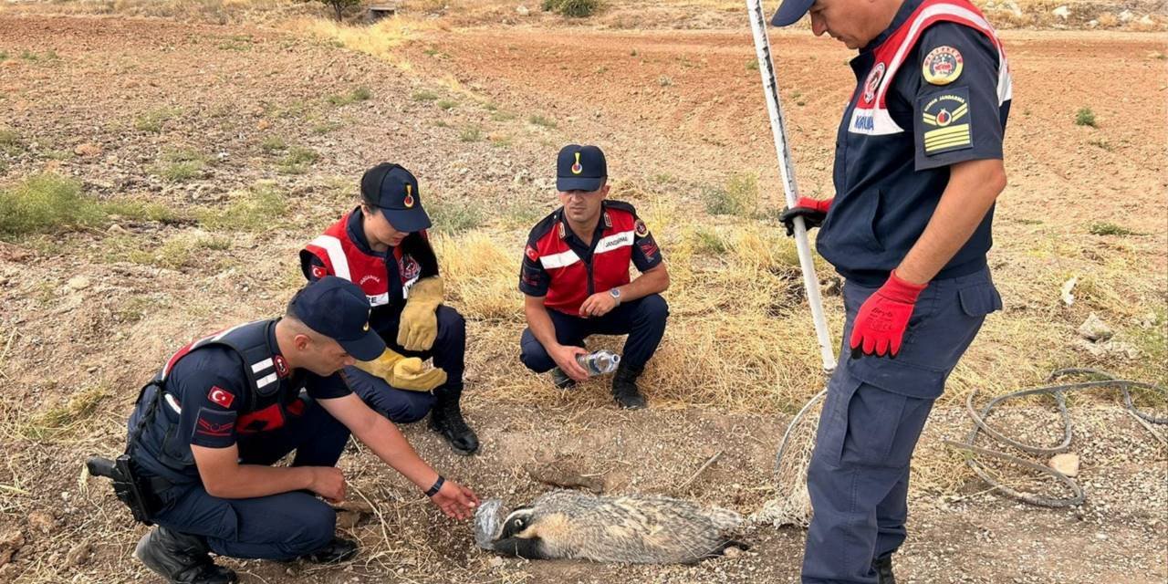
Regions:
[[[74,179],[37,174],[0,190],[0,235],[51,232],[103,218],[100,206]]]

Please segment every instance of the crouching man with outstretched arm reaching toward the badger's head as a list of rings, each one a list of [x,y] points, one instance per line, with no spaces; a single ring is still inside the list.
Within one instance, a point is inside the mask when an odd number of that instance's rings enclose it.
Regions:
[[[356,285],[326,277],[284,318],[238,325],[172,356],[139,396],[126,453],[158,527],[134,556],[172,583],[235,582],[209,552],[340,562],[356,543],[321,501],[346,498],[335,467],[352,431],[443,513],[466,519],[475,494],[445,480],[336,374],[385,349]],[[271,466],[296,451],[291,466]],[[318,499],[320,498],[320,499]]]

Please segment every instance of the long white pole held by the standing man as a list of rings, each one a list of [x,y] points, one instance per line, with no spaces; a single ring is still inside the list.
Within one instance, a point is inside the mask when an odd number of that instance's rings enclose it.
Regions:
[[[771,133],[774,134],[774,152],[779,158],[779,174],[783,176],[783,194],[787,207],[794,207],[799,200],[799,188],[795,187],[795,173],[791,162],[791,148],[787,146],[787,126],[783,120],[783,106],[779,104],[779,83],[771,62],[771,41],[766,36],[766,15],[763,14],[763,0],[746,0],[746,12],[750,13],[750,29],[755,33],[755,53],[758,56],[758,71],[763,76],[763,92],[766,95],[766,110],[771,114]],[[807,227],[802,217],[795,217],[795,249],[799,251],[799,266],[804,272],[804,287],[807,288],[807,304],[811,305],[811,317],[815,322],[815,336],[819,339],[819,352],[823,357],[823,370],[835,369],[835,352],[832,350],[832,339],[823,319],[823,300],[819,296],[819,278],[815,277],[815,264],[811,257],[811,244],[807,243]]]

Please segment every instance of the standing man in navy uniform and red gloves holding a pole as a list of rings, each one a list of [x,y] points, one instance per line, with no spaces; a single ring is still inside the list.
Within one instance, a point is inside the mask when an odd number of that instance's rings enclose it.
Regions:
[[[986,314],[1001,308],[986,252],[1006,187],[1009,67],[967,0],[785,0],[772,23],[808,9],[815,35],[860,54],[835,197],[785,213],[788,224],[822,223],[819,252],[847,280],[851,353],[828,384],[808,468],[802,582],[891,584],[922,426]]]

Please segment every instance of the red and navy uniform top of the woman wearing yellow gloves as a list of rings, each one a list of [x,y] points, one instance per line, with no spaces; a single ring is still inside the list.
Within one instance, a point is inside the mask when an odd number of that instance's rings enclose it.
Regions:
[[[438,276],[438,260],[425,230],[405,236],[385,252],[374,251],[362,218],[357,207],[305,245],[300,270],[308,281],[336,276],[361,286],[373,307],[369,326],[382,333],[381,325],[405,306],[410,286],[419,278]],[[397,331],[392,334],[397,335]]]

